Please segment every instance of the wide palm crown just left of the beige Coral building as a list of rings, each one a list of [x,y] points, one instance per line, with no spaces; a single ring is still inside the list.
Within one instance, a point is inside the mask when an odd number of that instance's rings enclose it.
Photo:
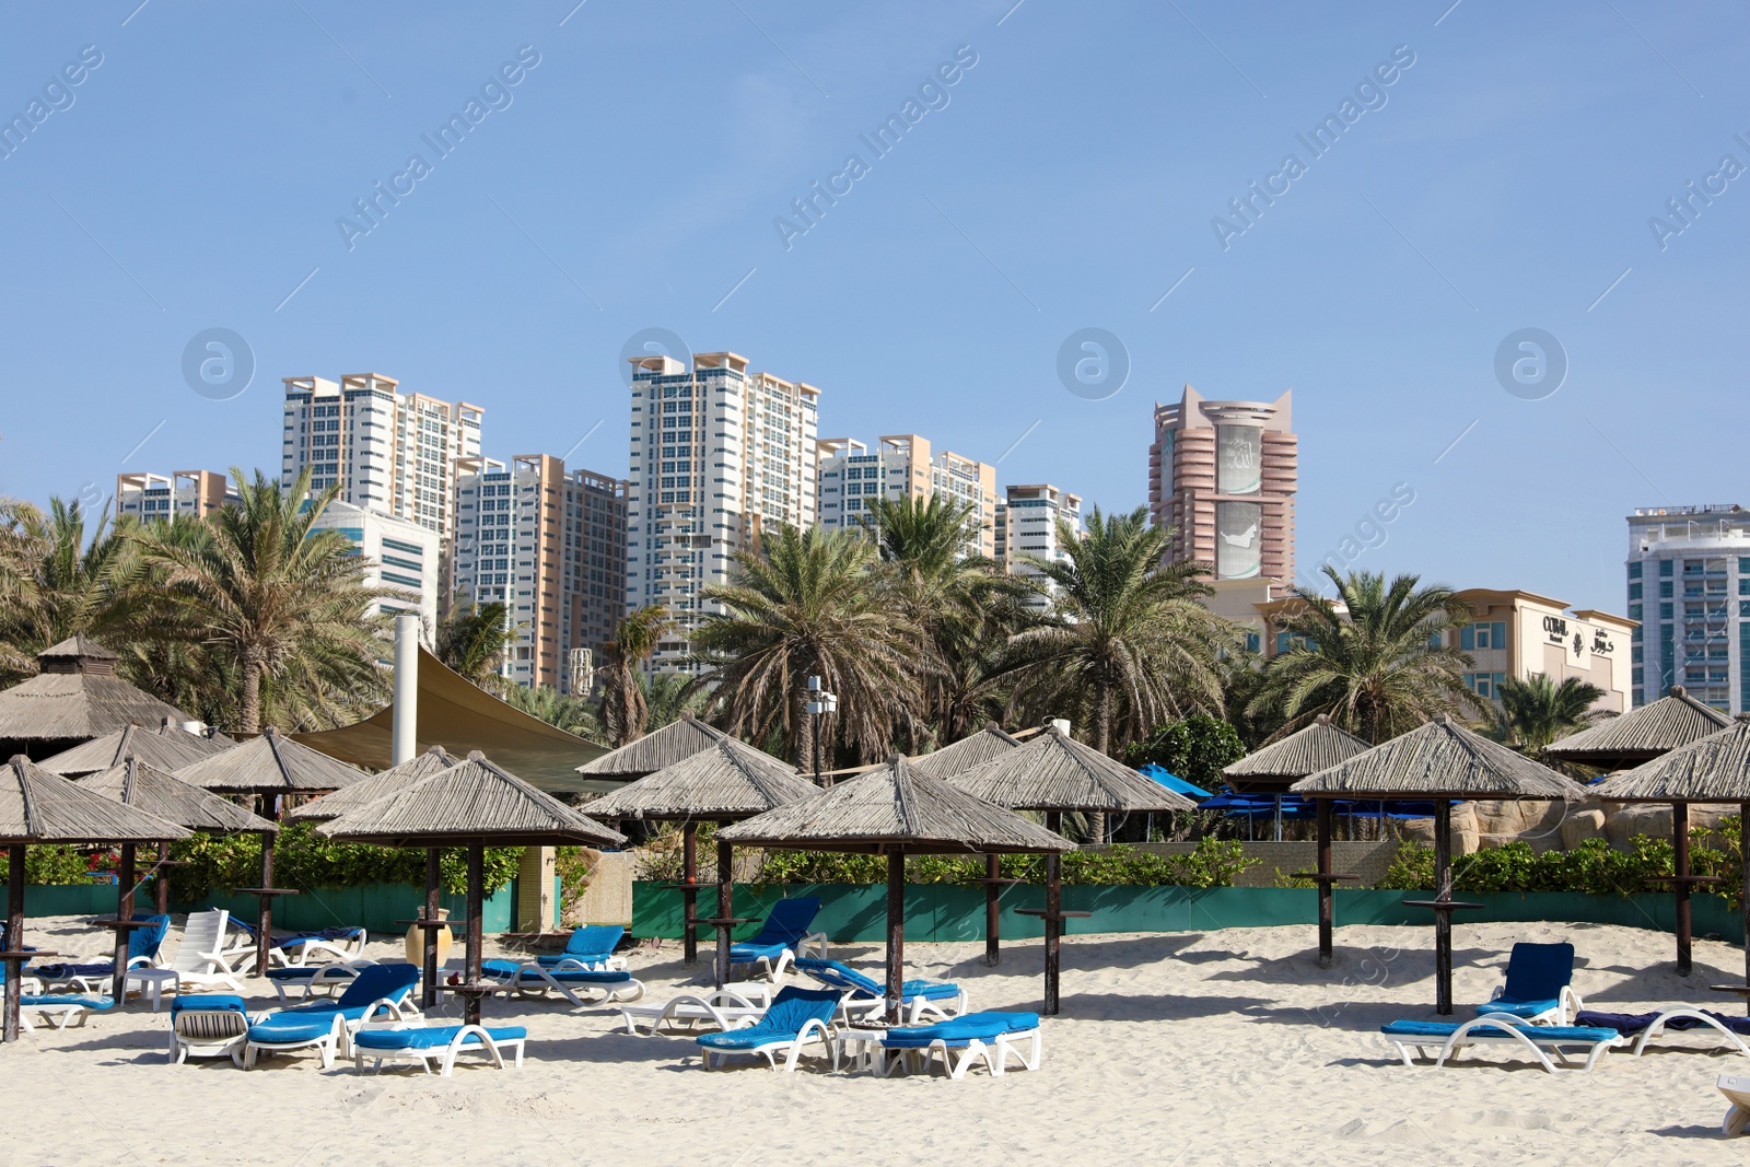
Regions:
[[[1337,600],[1295,588],[1298,604],[1283,621],[1292,647],[1265,668],[1246,707],[1250,716],[1281,716],[1283,730],[1292,731],[1326,714],[1379,744],[1437,714],[1486,709],[1465,688],[1470,656],[1437,635],[1472,619],[1456,591],[1419,586],[1419,576],[1396,576],[1386,584],[1384,574],[1339,576],[1330,565],[1325,576],[1337,586]]]

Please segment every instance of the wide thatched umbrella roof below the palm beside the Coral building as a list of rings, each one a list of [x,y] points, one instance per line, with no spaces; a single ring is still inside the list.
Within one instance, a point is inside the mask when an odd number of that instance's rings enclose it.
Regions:
[[[1578,798],[1582,787],[1440,716],[1335,766],[1295,794],[1344,798]]]

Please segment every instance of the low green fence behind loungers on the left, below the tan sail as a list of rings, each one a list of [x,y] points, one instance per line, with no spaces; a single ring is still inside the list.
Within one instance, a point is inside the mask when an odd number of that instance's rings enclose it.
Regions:
[[[0,903],[5,885],[0,884]],[[135,894],[138,910],[152,903],[150,884]],[[212,892],[196,903],[170,901],[173,912],[201,912],[224,908],[243,920],[254,920],[254,896],[226,896]],[[514,924],[514,880],[485,899],[483,922],[488,933],[508,933]],[[425,892],[404,884],[366,884],[362,887],[317,887],[299,896],[280,896],[273,903],[273,926],[289,931],[318,931],[345,924],[362,924],[373,933],[404,933],[406,920],[420,915]],[[460,919],[467,910],[462,896],[443,898],[450,919]],[[32,884],[24,887],[24,915],[116,915],[114,884]]]

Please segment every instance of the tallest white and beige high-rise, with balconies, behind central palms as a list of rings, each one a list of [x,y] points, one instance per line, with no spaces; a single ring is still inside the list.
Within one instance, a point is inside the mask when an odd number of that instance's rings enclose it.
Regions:
[[[710,609],[700,591],[728,579],[735,551],[765,527],[814,523],[819,395],[732,352],[693,353],[691,369],[632,359],[625,600],[674,616],[653,668],[696,668],[688,632]]]

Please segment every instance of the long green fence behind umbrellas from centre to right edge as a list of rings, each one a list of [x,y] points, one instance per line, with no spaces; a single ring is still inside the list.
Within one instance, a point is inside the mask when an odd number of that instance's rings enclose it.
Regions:
[[[819,896],[816,927],[835,943],[880,943],[887,938],[887,887],[870,884],[808,884],[754,889],[735,885],[735,915],[763,919],[784,896]],[[1409,908],[1405,899],[1428,892],[1384,889],[1339,889],[1337,924],[1430,924],[1426,908]],[[1586,892],[1486,892],[1463,896],[1480,910],[1461,912],[1460,926],[1488,920],[1570,920],[1575,924],[1622,924],[1675,931],[1671,896],[1591,896]],[[1743,917],[1718,896],[1694,896],[1694,931],[1743,943]],[[957,884],[910,884],[905,889],[905,936],[919,941],[984,940],[982,887]],[[1045,889],[1013,885],[1003,892],[1001,931],[1013,940],[1045,934],[1038,917],[1017,908],[1045,906]],[[1318,922],[1318,892],[1298,887],[1064,887],[1064,908],[1092,912],[1066,924],[1071,934],[1085,933],[1195,933],[1223,927],[1270,927]],[[716,899],[700,896],[700,917],[716,915]],[[760,924],[746,924],[735,938],[746,940]],[[710,929],[704,929],[707,934]],[[632,934],[681,936],[681,892],[656,884],[632,885]]]

